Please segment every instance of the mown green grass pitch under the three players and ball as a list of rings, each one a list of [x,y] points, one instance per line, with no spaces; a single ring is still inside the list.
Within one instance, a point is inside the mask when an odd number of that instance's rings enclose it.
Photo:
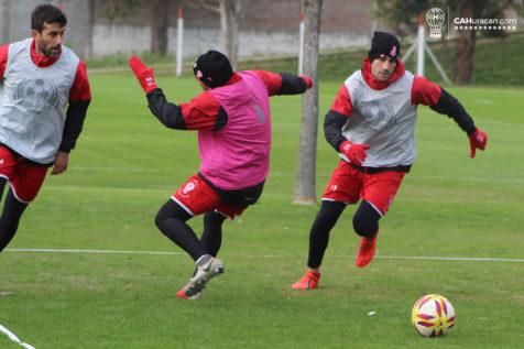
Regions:
[[[320,84],[321,118],[341,83]],[[160,78],[173,101],[193,79]],[[353,264],[348,207],[331,240],[323,287],[294,292],[318,207],[292,204],[301,97],[275,97],[272,170],[259,205],[225,225],[226,272],[196,302],[176,298],[192,260],[153,223],[189,175],[195,133],[164,129],[131,76],[91,76],[94,101],[69,170],[47,177],[0,255],[0,324],[35,348],[522,348],[524,335],[524,90],[449,88],[489,133],[469,159],[455,122],[421,107],[418,160],[381,222],[378,258]],[[321,122],[320,122],[321,123]],[[337,155],[321,130],[317,195]],[[199,218],[192,222],[200,230]],[[15,249],[166,251],[44,253]],[[391,257],[421,257],[419,260]],[[424,258],[518,261],[449,261]],[[456,328],[425,339],[411,308],[448,297]],[[369,316],[369,312],[376,315]],[[20,348],[0,334],[0,348]]]

